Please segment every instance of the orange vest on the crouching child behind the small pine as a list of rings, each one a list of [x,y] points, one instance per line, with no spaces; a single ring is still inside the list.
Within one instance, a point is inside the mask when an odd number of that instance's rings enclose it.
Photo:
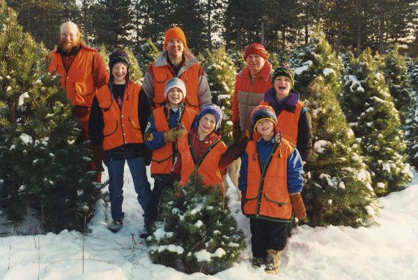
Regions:
[[[219,185],[219,192],[223,194],[224,183],[218,165],[221,155],[226,151],[225,143],[217,139],[200,159],[195,159],[190,141],[190,134],[178,139],[178,153],[180,153],[182,161],[180,185],[186,185],[190,175],[197,168],[197,173],[203,176],[203,184],[206,186]]]

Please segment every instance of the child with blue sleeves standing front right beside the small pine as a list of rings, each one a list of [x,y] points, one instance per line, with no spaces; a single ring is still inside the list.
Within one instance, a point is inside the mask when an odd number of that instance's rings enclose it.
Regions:
[[[253,139],[241,157],[238,187],[242,212],[250,218],[252,266],[265,263],[265,272],[273,274],[280,267],[292,210],[298,219],[306,218],[300,196],[302,160],[297,149],[281,138],[272,107],[255,107],[251,124]]]

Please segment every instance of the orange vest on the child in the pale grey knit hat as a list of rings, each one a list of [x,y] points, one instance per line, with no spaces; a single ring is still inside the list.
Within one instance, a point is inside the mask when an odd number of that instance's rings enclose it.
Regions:
[[[180,122],[185,125],[187,131],[192,127],[196,111],[185,107]],[[170,130],[167,116],[164,112],[164,107],[160,107],[153,111],[153,119],[155,129],[159,132],[167,132]],[[153,160],[151,161],[151,174],[169,174],[173,168],[173,158],[176,157],[176,143],[167,143],[161,148],[153,151]]]

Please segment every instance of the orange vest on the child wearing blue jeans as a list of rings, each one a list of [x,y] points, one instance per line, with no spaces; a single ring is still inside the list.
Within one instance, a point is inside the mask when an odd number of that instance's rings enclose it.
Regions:
[[[127,143],[144,143],[138,119],[138,100],[141,86],[130,81],[123,95],[122,111],[111,95],[108,85],[96,93],[103,113],[103,150]]]

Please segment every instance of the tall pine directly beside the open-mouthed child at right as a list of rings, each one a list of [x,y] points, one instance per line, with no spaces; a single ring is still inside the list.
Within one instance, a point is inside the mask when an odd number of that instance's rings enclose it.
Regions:
[[[376,195],[337,100],[341,65],[320,33],[291,54],[291,61],[297,63],[295,88],[303,89],[314,134],[314,153],[307,163],[311,176],[302,191],[309,224],[369,224],[377,214]]]

